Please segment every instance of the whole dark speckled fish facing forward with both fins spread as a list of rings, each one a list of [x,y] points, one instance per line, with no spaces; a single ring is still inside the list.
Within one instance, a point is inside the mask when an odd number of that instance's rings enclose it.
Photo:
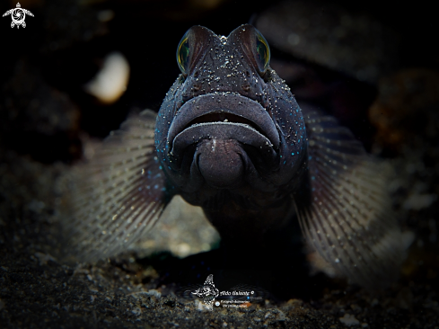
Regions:
[[[130,116],[69,173],[59,209],[69,253],[94,262],[126,250],[180,195],[235,249],[263,248],[297,218],[350,282],[393,278],[413,235],[391,208],[387,172],[335,118],[299,106],[263,35],[193,26],[176,57],[181,74],[158,114]]]

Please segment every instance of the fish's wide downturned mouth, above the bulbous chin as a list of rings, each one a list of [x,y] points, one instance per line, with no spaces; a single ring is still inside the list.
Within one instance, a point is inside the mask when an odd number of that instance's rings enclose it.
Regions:
[[[235,139],[277,150],[279,133],[268,111],[235,93],[207,93],[184,103],[168,132],[171,155],[202,139]]]

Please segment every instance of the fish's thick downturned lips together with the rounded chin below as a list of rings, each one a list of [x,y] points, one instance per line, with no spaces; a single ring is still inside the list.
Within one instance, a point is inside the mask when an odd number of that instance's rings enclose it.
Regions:
[[[235,93],[209,93],[181,106],[168,143],[174,170],[199,173],[215,188],[235,188],[254,173],[255,162],[274,164],[280,138],[259,102]]]

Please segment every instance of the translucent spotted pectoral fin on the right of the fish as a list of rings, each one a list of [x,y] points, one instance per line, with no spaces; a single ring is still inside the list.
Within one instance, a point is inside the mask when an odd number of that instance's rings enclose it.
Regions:
[[[303,117],[309,181],[294,201],[304,236],[351,282],[391,283],[413,235],[400,230],[383,166],[334,118],[306,107]]]

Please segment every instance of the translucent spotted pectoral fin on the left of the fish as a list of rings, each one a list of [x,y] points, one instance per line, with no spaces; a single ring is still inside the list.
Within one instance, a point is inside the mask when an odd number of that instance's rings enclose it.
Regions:
[[[168,202],[154,148],[155,113],[126,120],[89,163],[60,180],[60,218],[69,253],[80,261],[110,257],[153,227]],[[67,191],[66,191],[67,190]]]

